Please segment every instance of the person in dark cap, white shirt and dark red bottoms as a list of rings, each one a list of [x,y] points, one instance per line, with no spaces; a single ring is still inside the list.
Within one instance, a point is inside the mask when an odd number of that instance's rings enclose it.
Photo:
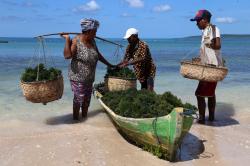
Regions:
[[[199,10],[195,17],[191,21],[196,21],[196,24],[200,30],[202,30],[202,40],[200,47],[199,60],[202,64],[208,64],[213,66],[223,66],[222,57],[220,53],[220,30],[210,23],[212,15],[207,10]],[[199,109],[198,123],[205,123],[205,110],[206,101],[205,97],[208,97],[208,110],[209,121],[214,121],[214,113],[216,106],[215,89],[217,82],[199,81],[195,95],[197,98]]]

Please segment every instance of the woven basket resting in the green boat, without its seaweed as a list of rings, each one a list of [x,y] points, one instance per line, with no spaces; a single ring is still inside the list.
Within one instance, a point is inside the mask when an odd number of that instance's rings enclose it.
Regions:
[[[107,91],[121,91],[131,88],[136,88],[136,78],[105,77],[105,90]]]

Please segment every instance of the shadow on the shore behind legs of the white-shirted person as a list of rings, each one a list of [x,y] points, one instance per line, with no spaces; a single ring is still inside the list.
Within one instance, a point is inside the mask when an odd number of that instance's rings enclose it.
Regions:
[[[232,104],[228,103],[217,103],[215,120],[213,122],[206,122],[207,126],[223,127],[237,125],[239,122],[233,118],[235,115],[235,109]]]

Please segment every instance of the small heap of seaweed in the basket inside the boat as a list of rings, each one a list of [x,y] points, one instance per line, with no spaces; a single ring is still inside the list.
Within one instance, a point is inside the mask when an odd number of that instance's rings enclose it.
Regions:
[[[128,68],[128,67],[124,67],[124,68],[107,68],[107,73],[105,75],[105,77],[119,77],[119,78],[123,78],[123,79],[135,79],[135,73],[132,69]]]

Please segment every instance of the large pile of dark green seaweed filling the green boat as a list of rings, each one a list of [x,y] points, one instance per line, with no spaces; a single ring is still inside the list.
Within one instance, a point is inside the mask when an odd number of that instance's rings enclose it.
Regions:
[[[102,99],[116,114],[131,118],[165,116],[175,107],[197,110],[190,103],[182,103],[181,99],[171,92],[156,94],[148,90],[129,89],[126,91],[107,92]]]

